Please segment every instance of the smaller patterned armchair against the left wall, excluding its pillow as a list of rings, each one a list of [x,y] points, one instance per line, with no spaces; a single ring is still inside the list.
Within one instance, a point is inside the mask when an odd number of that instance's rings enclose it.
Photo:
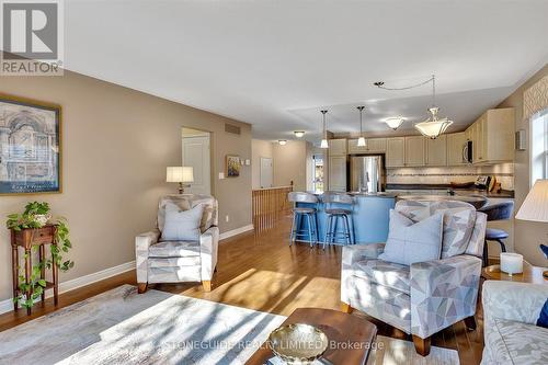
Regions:
[[[182,210],[205,205],[199,241],[162,240],[167,202]],[[178,194],[160,199],[157,228],[135,238],[139,293],[145,293],[149,283],[202,282],[205,292],[212,289],[219,242],[217,210],[217,199],[208,195]]]

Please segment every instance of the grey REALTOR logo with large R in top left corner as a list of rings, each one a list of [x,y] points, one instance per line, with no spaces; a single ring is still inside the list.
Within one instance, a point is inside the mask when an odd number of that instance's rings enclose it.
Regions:
[[[0,0],[0,75],[62,75],[62,0]]]

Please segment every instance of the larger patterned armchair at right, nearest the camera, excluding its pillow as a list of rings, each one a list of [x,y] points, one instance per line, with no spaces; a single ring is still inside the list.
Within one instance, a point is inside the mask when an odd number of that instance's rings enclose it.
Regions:
[[[395,209],[414,221],[444,210],[442,258],[408,266],[379,260],[385,243],[344,247],[342,308],[358,309],[412,334],[416,352],[425,356],[432,334],[460,320],[476,328],[487,216],[454,201],[400,201]],[[457,244],[445,247],[446,236]]]

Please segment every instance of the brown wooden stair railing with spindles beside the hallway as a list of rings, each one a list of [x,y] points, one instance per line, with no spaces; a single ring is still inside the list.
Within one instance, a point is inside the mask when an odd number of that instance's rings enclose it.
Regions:
[[[293,185],[252,191],[253,226],[255,231],[272,228],[284,216],[288,215],[292,204],[287,194]]]

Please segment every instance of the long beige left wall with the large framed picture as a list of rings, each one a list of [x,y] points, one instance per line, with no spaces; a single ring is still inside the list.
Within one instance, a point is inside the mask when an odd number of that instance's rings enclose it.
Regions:
[[[227,153],[251,158],[250,125],[68,71],[0,77],[0,92],[62,105],[62,194],[0,196],[2,219],[34,199],[68,218],[76,266],[61,282],[135,260],[135,236],[153,228],[159,196],[176,191],[164,182],[165,167],[181,164],[182,126],[212,132],[220,230],[251,224],[251,167],[217,179]],[[225,133],[225,122],[241,135]],[[8,242],[0,228],[0,300],[11,297]]]

